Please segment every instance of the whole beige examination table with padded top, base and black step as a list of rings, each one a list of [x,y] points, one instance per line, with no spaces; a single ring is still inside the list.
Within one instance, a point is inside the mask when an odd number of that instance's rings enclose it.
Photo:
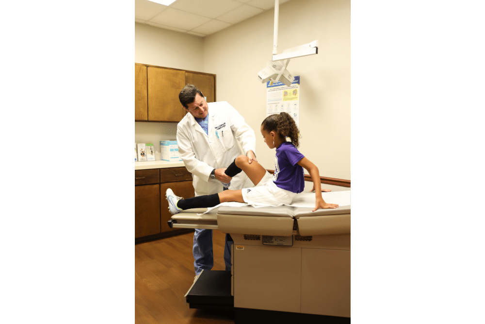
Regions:
[[[255,310],[350,320],[350,190],[322,196],[339,207],[312,212],[315,194],[304,192],[291,205],[224,203],[172,216],[171,227],[219,229],[234,241],[232,270],[203,271],[189,306],[234,307],[236,323]]]

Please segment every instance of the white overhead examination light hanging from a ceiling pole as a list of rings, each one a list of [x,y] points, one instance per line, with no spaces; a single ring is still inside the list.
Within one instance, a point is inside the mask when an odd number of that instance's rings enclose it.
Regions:
[[[281,81],[285,85],[291,85],[294,78],[290,71],[286,68],[290,63],[291,58],[318,54],[318,40],[314,40],[311,43],[293,47],[291,49],[284,50],[283,53],[278,54],[278,16],[279,16],[279,0],[275,0],[275,33],[273,44],[273,57],[272,63],[268,61],[266,68],[263,68],[258,73],[258,79],[261,83],[270,81],[270,84]],[[284,62],[286,60],[286,62]],[[278,62],[279,61],[279,62]]]

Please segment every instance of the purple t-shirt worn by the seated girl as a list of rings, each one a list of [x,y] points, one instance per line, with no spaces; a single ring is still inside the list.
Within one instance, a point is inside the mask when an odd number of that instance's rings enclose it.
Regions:
[[[276,149],[273,182],[277,187],[300,193],[305,188],[305,174],[297,163],[305,156],[291,142],[283,142]]]

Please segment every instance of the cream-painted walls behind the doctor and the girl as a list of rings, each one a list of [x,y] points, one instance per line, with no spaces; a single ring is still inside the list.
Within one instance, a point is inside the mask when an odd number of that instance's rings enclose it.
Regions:
[[[259,133],[266,86],[257,79],[271,60],[273,31],[273,10],[204,39],[135,23],[135,62],[216,74],[217,101],[229,102],[242,114],[256,132],[259,162],[274,169],[275,151]],[[350,0],[280,5],[278,53],[313,40],[319,41],[319,53],[294,58],[288,66],[301,77],[300,151],[321,176],[350,179]]]

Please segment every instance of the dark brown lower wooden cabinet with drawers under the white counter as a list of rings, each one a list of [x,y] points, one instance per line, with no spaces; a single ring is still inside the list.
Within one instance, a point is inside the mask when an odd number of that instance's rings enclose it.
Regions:
[[[168,226],[167,188],[179,197],[194,197],[192,175],[183,167],[135,170],[135,243],[194,231]]]

